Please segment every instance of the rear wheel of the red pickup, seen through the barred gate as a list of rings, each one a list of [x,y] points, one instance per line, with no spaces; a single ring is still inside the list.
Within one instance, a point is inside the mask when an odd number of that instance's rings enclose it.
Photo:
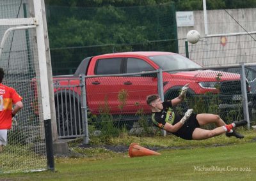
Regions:
[[[79,112],[77,104],[73,106],[72,103],[73,101],[71,101],[70,105],[68,101],[67,104],[65,104],[65,101],[63,101],[63,105],[59,103],[58,106],[56,106],[58,136],[76,137],[83,132],[83,126],[81,123],[79,124],[81,111]]]

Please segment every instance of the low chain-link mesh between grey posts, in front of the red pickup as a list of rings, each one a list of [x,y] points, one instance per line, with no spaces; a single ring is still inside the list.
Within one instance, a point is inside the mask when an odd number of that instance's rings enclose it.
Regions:
[[[183,70],[178,73],[164,72],[164,100],[177,98],[182,86],[189,83],[185,101],[176,107],[179,115],[184,115],[188,108],[193,108],[195,113],[220,115],[226,123],[244,119],[244,98],[241,94],[239,74],[241,68],[235,69],[239,72],[233,71],[232,68],[228,69],[228,72],[218,68],[199,71]],[[131,82],[131,87],[124,85],[128,80]],[[129,134],[159,134],[159,130],[152,127],[150,107],[145,102],[149,94],[157,94],[156,77],[113,76],[87,78],[86,81],[86,85],[89,85],[86,95],[88,108],[91,111],[88,117],[91,135],[95,135],[93,133],[118,135],[117,130],[122,131],[122,128],[125,128]],[[92,82],[99,82],[99,84],[92,85]],[[101,87],[102,84],[105,86]],[[136,84],[141,87],[138,86],[136,89],[134,86]],[[252,94],[251,86],[252,82],[246,82],[248,110],[252,117],[255,96]],[[253,119],[252,122],[254,122]]]

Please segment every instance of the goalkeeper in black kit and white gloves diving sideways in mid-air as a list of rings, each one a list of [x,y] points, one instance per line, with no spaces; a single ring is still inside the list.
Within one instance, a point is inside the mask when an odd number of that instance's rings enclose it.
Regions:
[[[196,114],[193,113],[193,109],[189,109],[184,117],[175,113],[173,106],[184,101],[187,90],[188,84],[182,87],[182,91],[177,98],[170,101],[162,101],[157,94],[147,96],[147,104],[152,110],[152,122],[155,126],[185,140],[204,140],[223,133],[228,137],[235,136],[236,138],[244,138],[244,136],[237,133],[234,128],[246,125],[246,120],[225,124],[219,115],[211,113]],[[212,130],[200,128],[211,123],[216,124],[218,127]]]

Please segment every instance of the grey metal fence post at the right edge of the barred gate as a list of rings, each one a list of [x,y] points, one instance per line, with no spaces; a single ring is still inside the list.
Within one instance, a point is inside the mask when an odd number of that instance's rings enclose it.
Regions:
[[[81,80],[81,96],[82,96],[82,121],[83,121],[83,132],[84,132],[84,144],[89,143],[89,133],[88,133],[88,117],[87,117],[87,103],[86,103],[86,89],[85,89],[85,76],[80,75]]]

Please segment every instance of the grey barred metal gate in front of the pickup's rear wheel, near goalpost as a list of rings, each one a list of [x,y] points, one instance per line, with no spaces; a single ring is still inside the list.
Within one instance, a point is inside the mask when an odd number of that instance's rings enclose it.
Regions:
[[[54,76],[54,100],[58,138],[84,136],[82,77]]]

